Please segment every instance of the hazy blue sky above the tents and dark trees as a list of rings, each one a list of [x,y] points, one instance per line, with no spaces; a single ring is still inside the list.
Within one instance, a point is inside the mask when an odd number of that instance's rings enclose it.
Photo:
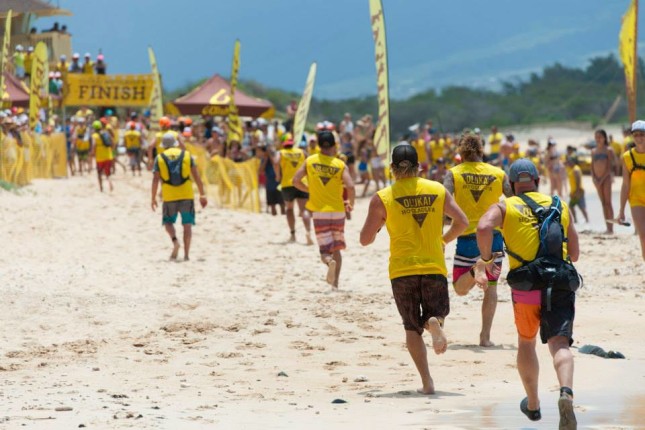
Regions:
[[[109,73],[148,73],[147,46],[164,85],[230,74],[302,91],[318,62],[315,97],[375,93],[367,0],[58,0],[73,17],[73,49],[102,49]],[[384,0],[393,97],[447,85],[495,86],[556,61],[582,66],[617,52],[629,0]],[[641,32],[642,33],[642,32]],[[642,45],[642,44],[641,44]],[[645,47],[645,46],[644,46]]]

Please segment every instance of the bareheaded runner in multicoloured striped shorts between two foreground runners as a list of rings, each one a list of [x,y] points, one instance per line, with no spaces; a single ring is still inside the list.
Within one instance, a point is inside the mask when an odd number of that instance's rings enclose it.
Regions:
[[[468,228],[457,238],[457,250],[452,268],[452,282],[457,295],[463,296],[475,286],[475,264],[480,258],[475,233],[477,223],[491,204],[497,203],[502,194],[511,196],[511,185],[503,170],[484,162],[484,146],[481,138],[473,133],[464,134],[458,146],[462,162],[451,168],[444,177],[443,185],[454,195],[459,207],[468,216]],[[499,230],[495,231],[493,251],[496,268],[488,274],[488,282],[480,286],[484,290],[482,301],[482,328],[479,345],[490,347],[495,310],[497,309],[497,280],[499,279],[504,241]]]

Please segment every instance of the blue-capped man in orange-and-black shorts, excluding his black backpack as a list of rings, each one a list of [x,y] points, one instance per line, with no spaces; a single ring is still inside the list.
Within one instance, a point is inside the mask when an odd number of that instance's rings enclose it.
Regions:
[[[485,268],[476,274],[478,283],[487,282],[485,272],[496,270],[492,251],[495,229],[502,229],[511,270],[529,264],[535,260],[538,253],[540,232],[535,228],[537,218],[519,196],[524,194],[543,207],[549,207],[552,198],[537,192],[540,175],[535,165],[526,158],[520,158],[511,165],[509,179],[515,196],[492,205],[477,225],[477,245],[481,252],[478,266]],[[570,258],[575,262],[580,254],[578,233],[574,223],[569,222],[569,208],[564,202],[561,203],[560,222],[566,240],[566,246],[561,250],[562,258]],[[533,288],[536,281],[531,279],[530,282]],[[540,365],[535,352],[535,337],[539,329],[542,343],[549,345],[560,385],[559,428],[575,430],[577,424],[573,412],[573,355],[569,346],[573,343],[576,294],[562,287],[528,291],[512,288],[511,297],[518,333],[517,370],[526,391],[526,397],[520,403],[520,410],[531,421],[542,418],[538,397]]]

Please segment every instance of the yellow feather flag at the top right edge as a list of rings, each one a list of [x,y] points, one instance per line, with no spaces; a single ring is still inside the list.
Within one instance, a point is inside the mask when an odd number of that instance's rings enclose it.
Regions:
[[[632,0],[623,16],[618,50],[625,68],[625,89],[630,122],[636,121],[636,65],[638,64],[638,0]]]

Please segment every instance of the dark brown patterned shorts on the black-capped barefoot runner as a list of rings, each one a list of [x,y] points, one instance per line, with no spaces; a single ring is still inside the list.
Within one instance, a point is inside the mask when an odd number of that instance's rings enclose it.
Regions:
[[[423,334],[423,326],[436,317],[441,325],[450,313],[448,280],[443,275],[412,275],[391,280],[394,301],[406,330]]]

